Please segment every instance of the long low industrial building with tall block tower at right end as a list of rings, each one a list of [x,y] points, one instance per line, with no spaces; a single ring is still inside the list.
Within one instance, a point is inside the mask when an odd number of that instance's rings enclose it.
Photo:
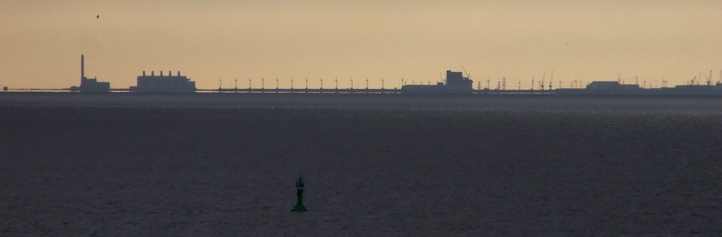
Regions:
[[[437,82],[436,85],[402,85],[402,93],[473,93],[471,85],[474,82],[464,77],[461,72],[446,70],[446,83]]]

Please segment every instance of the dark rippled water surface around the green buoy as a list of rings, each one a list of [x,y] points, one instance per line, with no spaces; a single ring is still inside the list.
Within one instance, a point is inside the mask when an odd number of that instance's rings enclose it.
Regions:
[[[721,98],[0,93],[0,111],[0,236],[722,234]]]

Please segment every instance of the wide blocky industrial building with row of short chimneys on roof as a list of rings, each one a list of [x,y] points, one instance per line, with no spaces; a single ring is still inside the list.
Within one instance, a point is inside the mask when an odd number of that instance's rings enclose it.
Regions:
[[[156,76],[155,72],[150,72],[150,75],[146,75],[145,71],[141,76],[138,76],[138,85],[130,87],[131,92],[196,92],[196,82],[191,81],[186,76],[181,76],[181,72],[178,75],[168,71],[168,75]]]

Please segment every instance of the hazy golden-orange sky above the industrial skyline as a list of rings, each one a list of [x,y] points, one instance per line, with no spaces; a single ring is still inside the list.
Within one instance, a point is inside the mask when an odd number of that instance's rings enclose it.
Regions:
[[[100,18],[96,15],[100,14]],[[0,1],[0,85],[113,88],[181,71],[203,89],[400,87],[463,68],[481,87],[682,85],[722,70],[722,1]],[[621,77],[620,77],[621,75]],[[520,84],[521,83],[521,84]]]

